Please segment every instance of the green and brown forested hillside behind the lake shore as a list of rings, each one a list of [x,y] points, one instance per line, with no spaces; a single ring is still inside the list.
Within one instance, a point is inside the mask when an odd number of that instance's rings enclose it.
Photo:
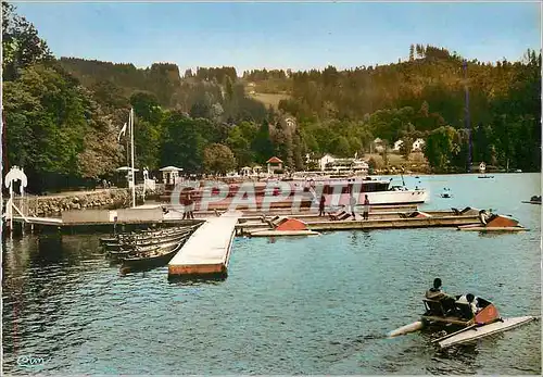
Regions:
[[[235,67],[198,67],[181,75],[173,63],[141,70],[55,58],[12,5],[2,2],[2,14],[7,163],[23,166],[36,191],[110,177],[126,165],[126,138],[117,136],[130,106],[137,165],[151,169],[225,173],[273,154],[306,168],[307,153],[362,155],[376,137],[389,144],[422,137],[435,172],[464,172],[468,124],[472,161],[541,168],[535,51],[464,68],[457,53],[415,45],[408,61],[382,66],[241,77]],[[266,108],[251,90],[286,99],[278,110]]]

